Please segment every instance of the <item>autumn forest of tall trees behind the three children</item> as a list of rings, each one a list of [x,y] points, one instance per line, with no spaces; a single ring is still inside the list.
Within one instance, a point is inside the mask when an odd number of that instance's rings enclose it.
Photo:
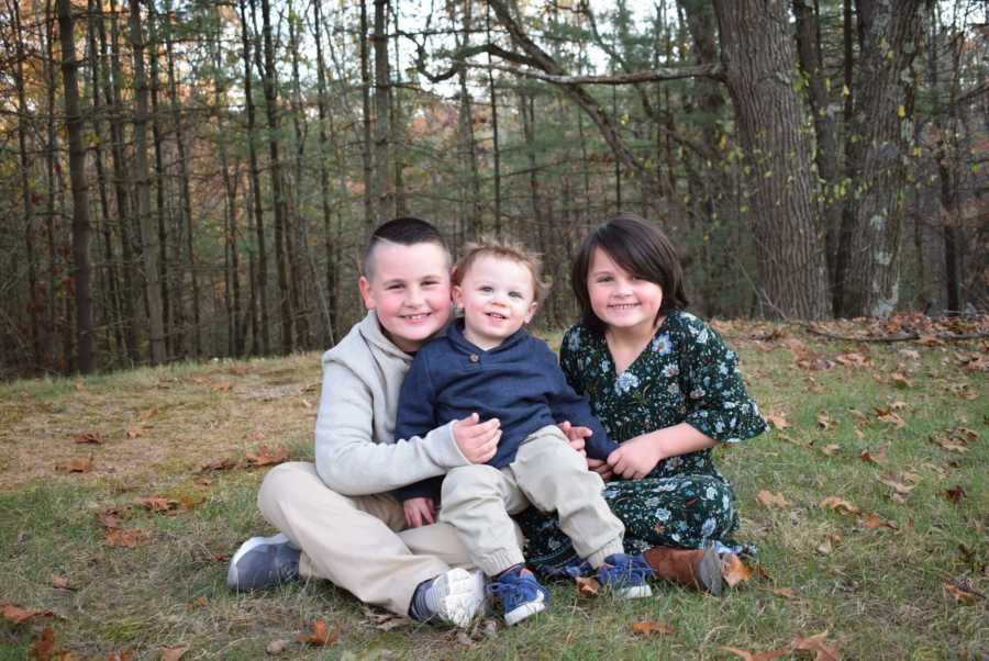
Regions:
[[[331,346],[369,231],[619,210],[705,317],[989,309],[976,0],[3,0],[0,378]]]

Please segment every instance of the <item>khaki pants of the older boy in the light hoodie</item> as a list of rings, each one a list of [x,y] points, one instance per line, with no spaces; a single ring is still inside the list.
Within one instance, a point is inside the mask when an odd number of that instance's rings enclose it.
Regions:
[[[473,567],[449,525],[404,529],[402,504],[395,497],[341,495],[326,488],[312,463],[271,469],[257,505],[268,523],[302,549],[302,576],[327,579],[362,602],[399,615],[409,614],[421,582],[452,567]],[[521,548],[518,527],[507,539]]]

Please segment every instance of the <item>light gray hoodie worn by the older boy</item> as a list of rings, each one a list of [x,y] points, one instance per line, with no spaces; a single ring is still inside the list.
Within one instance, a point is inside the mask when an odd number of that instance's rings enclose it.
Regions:
[[[333,491],[384,493],[469,463],[454,441],[453,423],[396,440],[399,390],[411,365],[412,356],[385,336],[373,311],[323,354],[315,466]]]

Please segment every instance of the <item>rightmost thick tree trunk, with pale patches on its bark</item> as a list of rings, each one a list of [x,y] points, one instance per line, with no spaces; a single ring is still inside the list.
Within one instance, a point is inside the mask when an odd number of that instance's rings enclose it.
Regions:
[[[884,316],[899,302],[900,244],[912,117],[900,93],[921,26],[921,0],[859,0],[862,75],[848,152],[853,197],[842,313]],[[904,137],[905,136],[905,137]]]

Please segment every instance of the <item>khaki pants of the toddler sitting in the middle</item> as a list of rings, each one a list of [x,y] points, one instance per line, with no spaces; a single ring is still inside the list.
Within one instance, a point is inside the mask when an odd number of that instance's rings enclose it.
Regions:
[[[604,502],[603,490],[601,475],[587,470],[566,436],[557,427],[543,427],[503,469],[470,464],[446,473],[440,522],[460,533],[470,560],[492,576],[524,562],[509,515],[532,503],[556,512],[577,553],[598,567],[608,556],[624,552],[625,527]]]

